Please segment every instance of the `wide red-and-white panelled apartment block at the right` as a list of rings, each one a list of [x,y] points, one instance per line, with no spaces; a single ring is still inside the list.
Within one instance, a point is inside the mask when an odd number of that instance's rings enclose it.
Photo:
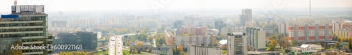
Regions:
[[[322,42],[332,40],[331,24],[304,24],[289,26],[289,40],[302,42]]]

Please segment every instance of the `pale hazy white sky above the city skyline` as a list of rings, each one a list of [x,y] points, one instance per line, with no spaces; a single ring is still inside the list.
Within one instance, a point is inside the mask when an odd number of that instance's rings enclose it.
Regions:
[[[352,0],[311,0],[312,8],[352,7]],[[231,8],[308,8],[309,0],[18,0],[18,5],[45,5],[46,11],[177,10]],[[157,6],[153,6],[157,5]],[[0,11],[11,11],[13,0],[0,0]]]

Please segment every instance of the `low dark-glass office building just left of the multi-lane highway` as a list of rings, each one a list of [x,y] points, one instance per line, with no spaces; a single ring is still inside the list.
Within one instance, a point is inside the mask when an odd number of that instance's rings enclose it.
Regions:
[[[54,39],[54,45],[82,45],[82,50],[94,51],[97,47],[97,40],[97,34],[93,32],[77,31],[77,33],[59,33],[58,38]],[[55,52],[70,52],[77,50],[56,50]]]

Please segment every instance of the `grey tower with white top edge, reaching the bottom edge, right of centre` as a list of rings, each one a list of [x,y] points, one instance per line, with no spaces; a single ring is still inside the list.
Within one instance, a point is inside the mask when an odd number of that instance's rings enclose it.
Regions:
[[[246,33],[227,34],[227,55],[247,55]]]

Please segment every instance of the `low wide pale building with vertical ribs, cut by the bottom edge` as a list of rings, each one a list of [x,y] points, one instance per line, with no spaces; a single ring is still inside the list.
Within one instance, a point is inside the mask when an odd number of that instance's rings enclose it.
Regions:
[[[187,55],[222,55],[220,47],[189,45]]]

